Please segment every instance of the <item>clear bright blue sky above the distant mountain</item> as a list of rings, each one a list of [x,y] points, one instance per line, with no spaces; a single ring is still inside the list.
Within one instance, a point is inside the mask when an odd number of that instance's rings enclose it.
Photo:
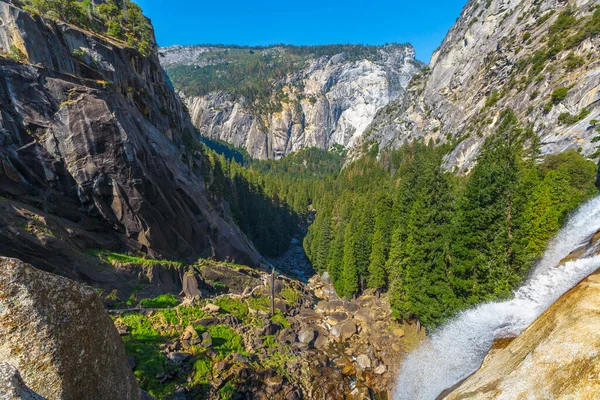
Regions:
[[[428,62],[466,0],[136,0],[160,46],[412,43]]]

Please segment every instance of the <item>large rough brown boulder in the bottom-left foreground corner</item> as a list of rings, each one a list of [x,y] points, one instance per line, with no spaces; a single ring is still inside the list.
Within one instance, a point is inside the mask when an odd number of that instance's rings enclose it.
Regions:
[[[121,338],[96,291],[5,257],[0,360],[49,400],[140,399]]]

